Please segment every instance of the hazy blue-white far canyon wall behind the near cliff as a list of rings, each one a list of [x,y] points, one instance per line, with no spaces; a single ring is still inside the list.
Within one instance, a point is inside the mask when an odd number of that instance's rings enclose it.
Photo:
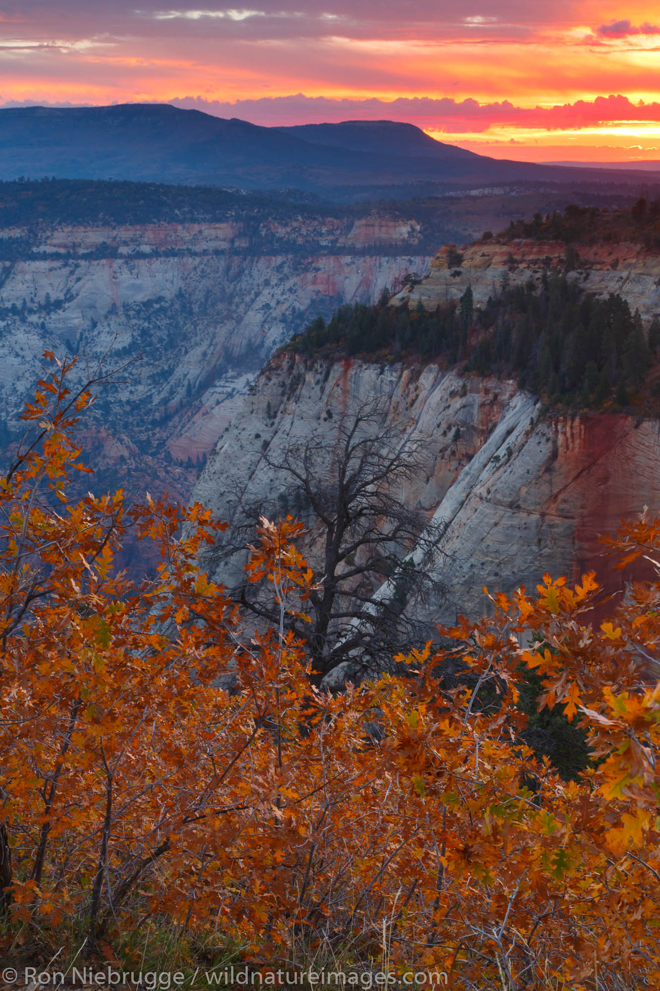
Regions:
[[[421,275],[430,259],[416,220],[371,208],[311,218],[291,209],[290,222],[234,213],[0,230],[0,440],[18,432],[46,349],[92,365],[107,355],[108,369],[132,362],[95,406],[97,484],[148,481],[185,501],[195,463],[278,345],[319,313]]]

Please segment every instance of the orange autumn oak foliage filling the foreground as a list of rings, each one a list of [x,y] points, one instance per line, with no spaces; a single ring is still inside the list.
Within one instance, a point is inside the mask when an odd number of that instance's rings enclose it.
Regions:
[[[325,947],[461,989],[658,986],[660,585],[594,624],[595,576],[546,576],[411,649],[409,677],[324,694],[284,632],[308,591],[300,524],[256,535],[281,622],[255,631],[199,573],[222,526],[200,506],[69,499],[89,395],[68,372],[40,384],[0,485],[7,939],[74,918],[102,952],[169,919],[264,962]],[[143,584],[115,566],[129,533],[160,548]],[[655,560],[660,520],[609,544]],[[529,670],[589,731],[578,781],[521,742]]]

